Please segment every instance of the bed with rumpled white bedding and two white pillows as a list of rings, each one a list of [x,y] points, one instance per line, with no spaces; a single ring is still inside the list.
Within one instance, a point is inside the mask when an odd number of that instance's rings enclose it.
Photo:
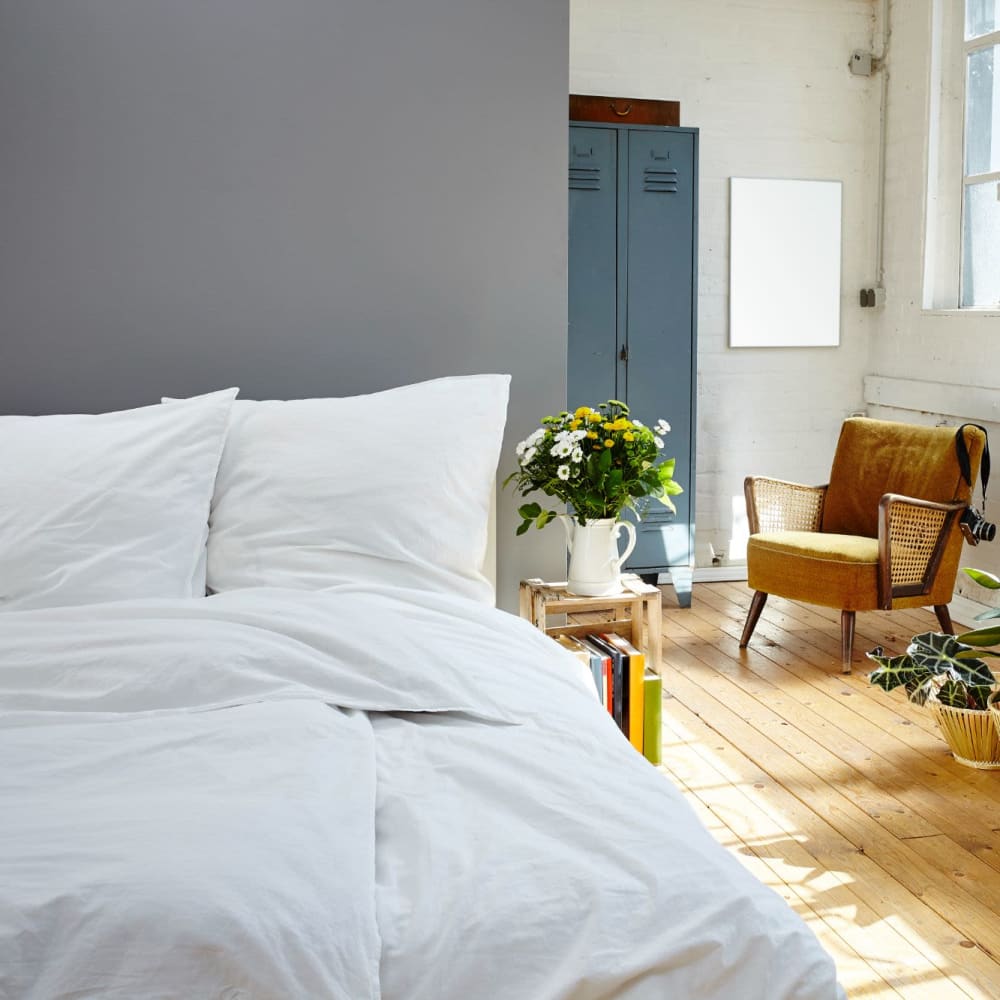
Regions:
[[[506,377],[235,395],[0,417],[0,997],[843,996],[493,607]]]

